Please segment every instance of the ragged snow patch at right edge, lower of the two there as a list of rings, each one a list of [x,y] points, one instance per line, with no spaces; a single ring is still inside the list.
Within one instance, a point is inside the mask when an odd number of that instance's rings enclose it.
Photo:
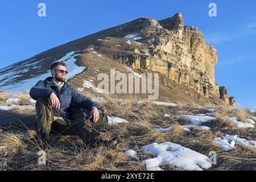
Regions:
[[[221,138],[216,138],[215,140],[218,141],[218,144],[226,151],[232,150],[236,147],[234,147],[235,144],[238,144],[240,146],[246,147],[246,146],[250,146],[250,147],[254,147],[256,148],[256,142],[253,140],[246,140],[243,138],[239,138],[237,137],[237,135],[225,135],[225,137]],[[219,143],[220,142],[220,143]],[[229,146],[229,143],[231,142],[231,146]],[[224,144],[223,144],[224,143]],[[228,144],[227,144],[228,143]]]

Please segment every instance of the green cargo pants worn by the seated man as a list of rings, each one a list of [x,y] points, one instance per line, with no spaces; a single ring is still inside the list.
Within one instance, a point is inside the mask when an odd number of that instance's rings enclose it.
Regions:
[[[100,119],[95,123],[93,118],[89,119],[90,110],[88,109],[69,109],[69,118],[72,125],[78,131],[86,144],[94,144],[100,138],[100,130],[108,126],[108,117],[105,114],[105,108],[98,109]],[[38,98],[36,102],[36,126],[38,133],[49,135],[49,133],[58,133],[61,135],[76,135],[67,123],[57,122],[53,116],[53,108],[48,98]]]

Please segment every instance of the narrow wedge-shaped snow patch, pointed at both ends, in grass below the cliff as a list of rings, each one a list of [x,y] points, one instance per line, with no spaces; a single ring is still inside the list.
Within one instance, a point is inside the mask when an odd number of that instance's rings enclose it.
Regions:
[[[200,116],[200,115],[175,115],[174,118],[183,118],[187,121],[190,121],[193,123],[193,125],[197,125],[200,126],[203,123],[207,123],[212,121],[213,117],[209,117],[209,116]]]

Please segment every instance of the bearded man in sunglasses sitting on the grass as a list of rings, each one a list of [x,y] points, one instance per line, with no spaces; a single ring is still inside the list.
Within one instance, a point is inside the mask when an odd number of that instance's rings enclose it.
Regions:
[[[39,81],[30,90],[30,96],[37,101],[36,127],[39,136],[42,139],[48,138],[50,131],[63,135],[78,133],[86,144],[101,141],[100,130],[108,125],[104,110],[65,82],[68,74],[65,63],[53,63],[51,74],[52,77]],[[76,132],[60,117],[56,109],[65,118],[71,119]]]

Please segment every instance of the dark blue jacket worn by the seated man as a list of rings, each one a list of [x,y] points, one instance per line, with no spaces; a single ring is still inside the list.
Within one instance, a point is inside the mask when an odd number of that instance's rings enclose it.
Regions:
[[[81,109],[82,107],[87,109],[92,109],[93,106],[98,107],[95,102],[77,92],[66,82],[64,82],[64,86],[59,90],[52,80],[53,77],[48,77],[44,81],[39,81],[31,88],[30,96],[34,100],[37,100],[39,97],[49,98],[52,93],[55,93],[60,100],[60,110],[67,118],[69,118],[69,107],[75,107],[76,109]],[[53,111],[53,115],[60,117],[55,110]]]

